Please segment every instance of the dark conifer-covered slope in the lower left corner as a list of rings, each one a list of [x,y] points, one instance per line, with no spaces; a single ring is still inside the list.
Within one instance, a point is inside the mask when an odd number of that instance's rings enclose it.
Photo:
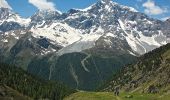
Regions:
[[[75,90],[66,87],[62,83],[37,79],[21,68],[3,63],[0,63],[0,86],[1,85],[10,87],[35,100],[62,100],[65,96],[75,92]]]

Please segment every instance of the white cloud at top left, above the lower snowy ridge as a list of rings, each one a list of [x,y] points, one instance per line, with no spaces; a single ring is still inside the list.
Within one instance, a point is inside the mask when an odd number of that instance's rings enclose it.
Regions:
[[[28,2],[39,10],[56,10],[55,4],[49,0],[28,0]]]

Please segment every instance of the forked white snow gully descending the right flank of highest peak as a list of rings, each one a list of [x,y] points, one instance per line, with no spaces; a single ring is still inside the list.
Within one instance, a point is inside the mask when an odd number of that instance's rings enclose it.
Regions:
[[[138,32],[136,28],[134,28],[133,31],[135,31],[139,37],[134,37],[132,31],[128,33],[126,31],[125,24],[120,19],[118,21],[121,29],[127,35],[125,36],[127,43],[134,52],[144,54],[150,50],[153,50],[155,47],[160,46],[160,44],[154,40],[154,37],[144,36],[142,32]]]

